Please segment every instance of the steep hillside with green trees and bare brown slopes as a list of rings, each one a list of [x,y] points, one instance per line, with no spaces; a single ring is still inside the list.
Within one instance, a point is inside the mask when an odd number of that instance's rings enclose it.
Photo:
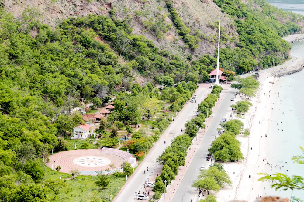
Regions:
[[[67,149],[73,127],[85,123],[70,112],[83,102],[95,109],[116,95],[105,124],[113,130],[180,111],[216,67],[220,11],[219,66],[230,79],[288,59],[282,36],[304,22],[263,1],[0,2],[1,201],[25,201],[29,190],[39,194],[26,201],[46,201],[34,183],[45,174],[41,158]]]

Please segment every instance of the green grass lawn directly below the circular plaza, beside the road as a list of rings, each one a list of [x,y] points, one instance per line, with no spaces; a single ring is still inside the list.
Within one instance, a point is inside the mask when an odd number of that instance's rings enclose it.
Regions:
[[[50,168],[47,167],[47,172],[45,175],[44,180],[49,179],[60,179],[64,180],[66,178],[71,177],[71,174],[66,173],[60,173],[57,171],[52,171]],[[94,184],[95,180],[97,180],[99,176],[77,176],[75,179],[66,180],[67,186],[61,188],[59,190],[59,194],[57,195],[56,199],[54,201],[64,201],[64,202],[74,202],[74,201],[80,201],[80,187],[75,186],[83,186],[81,191],[81,198],[82,201],[91,201],[92,198],[101,198],[105,201],[110,201],[110,194],[112,194],[112,200],[114,197],[118,194],[118,185],[123,187],[123,185],[126,183],[126,177],[111,177],[111,179],[108,187],[106,187],[104,190],[102,190],[100,187]],[[86,186],[84,186],[86,185]],[[48,189],[48,197],[49,199],[54,199],[54,192],[50,189]]]

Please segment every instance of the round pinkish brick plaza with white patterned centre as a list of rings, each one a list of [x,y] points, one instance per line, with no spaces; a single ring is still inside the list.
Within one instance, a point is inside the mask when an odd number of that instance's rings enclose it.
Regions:
[[[121,164],[126,161],[124,156],[130,155],[125,151],[111,149],[115,153],[104,152],[100,149],[80,149],[62,151],[50,155],[50,162],[47,167],[54,169],[59,165],[60,172],[71,173],[71,170],[78,170],[82,175],[97,175],[95,171],[105,171],[109,164],[114,164],[115,169],[121,168]],[[127,154],[126,154],[127,153]]]

